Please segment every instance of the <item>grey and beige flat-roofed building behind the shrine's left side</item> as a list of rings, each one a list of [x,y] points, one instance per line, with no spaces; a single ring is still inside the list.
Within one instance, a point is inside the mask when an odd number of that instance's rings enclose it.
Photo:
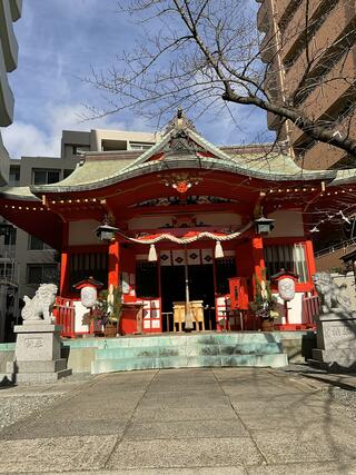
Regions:
[[[10,160],[9,186],[53,184],[72,172],[82,152],[145,150],[157,138],[158,135],[150,132],[63,130],[60,157],[22,157],[20,160]],[[12,229],[6,238],[2,237],[2,244],[0,236],[0,274],[4,273],[6,266],[7,273],[12,273],[19,283],[19,297],[32,296],[39,283],[58,277],[57,253],[19,228]]]

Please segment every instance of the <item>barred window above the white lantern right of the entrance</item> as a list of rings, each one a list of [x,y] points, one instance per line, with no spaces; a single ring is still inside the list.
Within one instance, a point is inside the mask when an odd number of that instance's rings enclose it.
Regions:
[[[265,246],[267,278],[285,269],[299,276],[299,283],[308,281],[308,267],[303,244]]]

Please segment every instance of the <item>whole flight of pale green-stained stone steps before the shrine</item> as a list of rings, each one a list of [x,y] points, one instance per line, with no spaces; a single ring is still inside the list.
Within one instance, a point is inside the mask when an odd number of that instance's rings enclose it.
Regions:
[[[91,373],[287,364],[280,343],[270,334],[165,335],[98,342]]]

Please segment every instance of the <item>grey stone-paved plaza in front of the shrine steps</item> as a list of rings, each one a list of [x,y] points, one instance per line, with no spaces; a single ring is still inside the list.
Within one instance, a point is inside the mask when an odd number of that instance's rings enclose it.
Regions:
[[[147,370],[6,387],[0,415],[9,418],[0,431],[6,474],[356,473],[353,415],[327,385],[281,370]]]

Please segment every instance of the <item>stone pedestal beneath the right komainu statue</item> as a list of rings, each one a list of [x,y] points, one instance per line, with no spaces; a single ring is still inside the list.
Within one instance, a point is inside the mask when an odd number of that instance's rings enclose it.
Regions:
[[[356,370],[356,314],[323,314],[316,320],[317,348],[310,363],[335,370]]]

